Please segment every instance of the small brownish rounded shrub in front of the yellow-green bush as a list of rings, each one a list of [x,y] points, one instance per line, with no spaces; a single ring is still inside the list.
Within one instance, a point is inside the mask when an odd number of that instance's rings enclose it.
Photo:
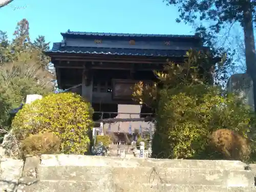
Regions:
[[[53,133],[39,133],[24,139],[20,152],[23,158],[27,155],[59,154],[60,143],[60,139]]]

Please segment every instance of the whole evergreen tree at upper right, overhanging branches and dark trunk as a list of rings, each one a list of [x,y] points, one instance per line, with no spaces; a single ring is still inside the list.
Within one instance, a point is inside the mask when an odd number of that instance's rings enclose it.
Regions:
[[[165,0],[167,5],[179,6],[176,22],[194,23],[195,20],[210,21],[210,30],[219,33],[225,24],[239,23],[244,30],[247,73],[253,81],[254,103],[256,103],[256,54],[253,22],[256,19],[254,0]],[[256,105],[255,111],[256,111]]]

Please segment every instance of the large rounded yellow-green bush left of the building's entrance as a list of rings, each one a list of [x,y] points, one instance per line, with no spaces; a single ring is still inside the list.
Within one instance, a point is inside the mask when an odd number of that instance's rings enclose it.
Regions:
[[[61,140],[60,152],[83,154],[88,151],[88,133],[93,127],[91,104],[74,93],[50,94],[25,104],[12,122],[18,140],[52,132]]]

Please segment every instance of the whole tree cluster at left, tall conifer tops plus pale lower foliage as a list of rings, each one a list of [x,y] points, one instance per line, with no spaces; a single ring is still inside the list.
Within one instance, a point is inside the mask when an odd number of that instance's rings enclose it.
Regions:
[[[28,94],[47,95],[53,91],[49,58],[32,46],[27,19],[18,22],[14,39],[0,32],[0,127],[10,129],[9,110],[22,103]],[[44,59],[42,59],[42,57]]]

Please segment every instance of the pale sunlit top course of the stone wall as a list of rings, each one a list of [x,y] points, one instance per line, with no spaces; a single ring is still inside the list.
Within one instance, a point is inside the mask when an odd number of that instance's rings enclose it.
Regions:
[[[182,160],[182,159],[143,159],[100,157],[85,155],[42,155],[42,166],[118,166],[118,167],[166,167],[166,168],[202,168],[244,170],[246,164],[241,161],[226,160]]]

